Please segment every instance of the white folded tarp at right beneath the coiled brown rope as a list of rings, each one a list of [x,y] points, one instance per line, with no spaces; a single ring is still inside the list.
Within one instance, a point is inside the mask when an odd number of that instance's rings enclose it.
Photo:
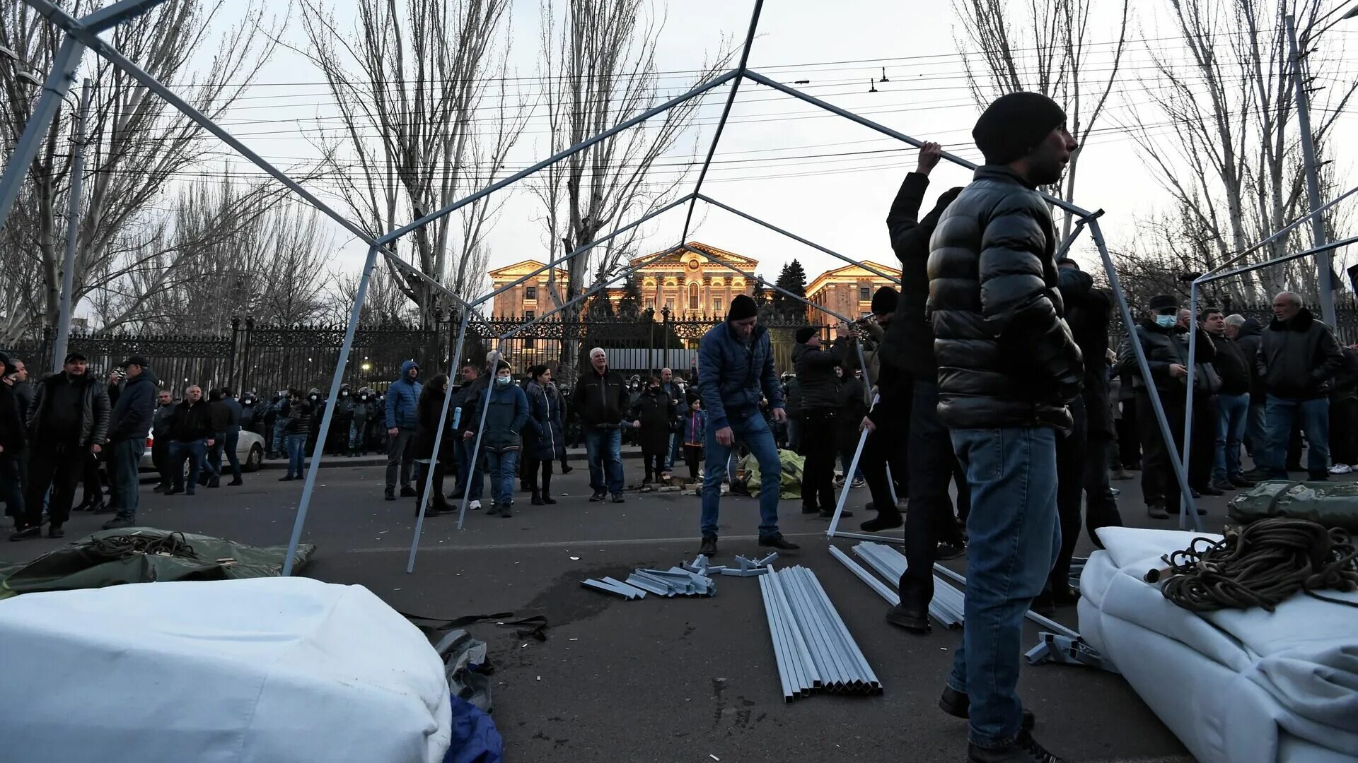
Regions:
[[[1146,584],[1161,554],[1219,535],[1105,527],[1080,574],[1080,633],[1205,763],[1358,759],[1358,608],[1183,610]],[[1358,601],[1358,593],[1325,596]]]

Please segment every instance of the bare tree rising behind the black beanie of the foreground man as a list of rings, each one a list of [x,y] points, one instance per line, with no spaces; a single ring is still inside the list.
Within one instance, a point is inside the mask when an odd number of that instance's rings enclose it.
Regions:
[[[1078,147],[1070,155],[1062,186],[1054,190],[1061,198],[1074,201],[1080,155],[1122,68],[1131,0],[1122,0],[1116,16],[1112,58],[1097,61],[1092,54],[1108,43],[1089,39],[1093,0],[1028,1],[1017,11],[1008,0],[953,0],[953,8],[961,16],[964,31],[957,43],[964,52],[967,84],[976,103],[987,105],[1006,92],[1035,91],[1066,110]],[[1070,227],[1067,213],[1063,236],[1070,235]]]

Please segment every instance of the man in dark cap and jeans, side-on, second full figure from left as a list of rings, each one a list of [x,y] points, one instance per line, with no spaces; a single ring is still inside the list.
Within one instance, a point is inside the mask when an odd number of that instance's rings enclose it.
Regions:
[[[126,382],[109,420],[109,477],[117,516],[103,524],[105,529],[137,524],[137,467],[141,466],[156,410],[156,377],[151,373],[151,361],[132,356],[122,361],[122,369]]]

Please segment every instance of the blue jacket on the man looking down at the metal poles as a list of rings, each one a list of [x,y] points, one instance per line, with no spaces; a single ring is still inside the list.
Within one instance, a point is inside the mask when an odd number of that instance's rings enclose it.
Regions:
[[[801,380],[803,406],[805,382]],[[784,407],[769,329],[756,323],[748,342],[736,337],[729,320],[709,329],[698,342],[698,391],[713,429],[731,426],[733,417],[759,413],[760,398],[769,399],[770,410]]]

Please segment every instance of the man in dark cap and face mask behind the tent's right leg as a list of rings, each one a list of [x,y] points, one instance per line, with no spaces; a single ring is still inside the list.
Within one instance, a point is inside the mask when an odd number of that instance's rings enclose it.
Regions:
[[[1146,354],[1146,365],[1150,367],[1150,380],[1141,375],[1141,365],[1131,346],[1133,334],[1123,338],[1118,349],[1118,369],[1131,376],[1137,395],[1137,429],[1141,432],[1142,449],[1141,494],[1152,519],[1169,519],[1169,510],[1177,512],[1180,490],[1169,449],[1160,433],[1160,421],[1150,403],[1150,386],[1154,386],[1160,405],[1164,406],[1175,436],[1175,451],[1183,452],[1184,406],[1188,403],[1187,334],[1188,330],[1179,323],[1179,300],[1173,295],[1157,295],[1150,297],[1146,318],[1137,323],[1135,330],[1137,341]],[[1211,362],[1215,356],[1211,337],[1199,333],[1195,362]]]

